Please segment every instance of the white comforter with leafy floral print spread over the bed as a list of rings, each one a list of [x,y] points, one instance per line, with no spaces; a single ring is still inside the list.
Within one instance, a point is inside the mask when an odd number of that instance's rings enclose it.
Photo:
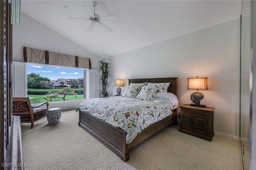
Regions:
[[[138,133],[152,123],[172,114],[168,102],[122,96],[85,100],[76,107],[78,110],[126,131],[126,143],[131,143]]]

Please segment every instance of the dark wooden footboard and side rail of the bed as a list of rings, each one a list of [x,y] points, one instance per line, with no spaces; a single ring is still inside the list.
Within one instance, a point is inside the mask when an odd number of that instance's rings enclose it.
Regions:
[[[101,121],[100,119],[82,111],[79,111],[78,121],[78,125],[80,127],[114,152],[124,162],[129,160],[129,149],[141,143],[145,139],[148,139],[150,136],[172,123],[176,123],[176,112],[172,113],[172,115],[165,119],[148,126],[139,133],[137,137],[135,137],[132,143],[126,144],[126,132],[120,128],[113,127],[109,123]]]

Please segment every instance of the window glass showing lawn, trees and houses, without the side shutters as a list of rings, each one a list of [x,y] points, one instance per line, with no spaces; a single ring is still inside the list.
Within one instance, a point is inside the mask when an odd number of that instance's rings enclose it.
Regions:
[[[84,70],[27,64],[31,104],[84,99]]]

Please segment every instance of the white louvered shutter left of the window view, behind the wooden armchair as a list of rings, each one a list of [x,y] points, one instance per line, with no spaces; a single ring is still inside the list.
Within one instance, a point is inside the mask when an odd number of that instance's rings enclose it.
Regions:
[[[26,63],[12,62],[12,96],[26,97],[27,96],[27,75]]]

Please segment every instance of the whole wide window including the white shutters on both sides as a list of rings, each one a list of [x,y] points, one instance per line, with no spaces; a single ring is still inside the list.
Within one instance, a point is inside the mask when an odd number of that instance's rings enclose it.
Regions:
[[[13,62],[13,96],[32,104],[97,98],[98,77],[98,70]]]

